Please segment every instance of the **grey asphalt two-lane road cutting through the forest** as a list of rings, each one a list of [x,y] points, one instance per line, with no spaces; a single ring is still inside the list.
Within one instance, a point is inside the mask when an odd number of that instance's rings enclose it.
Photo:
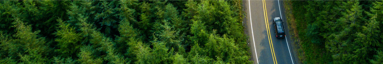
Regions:
[[[254,64],[297,64],[296,52],[290,41],[283,1],[243,0],[246,5],[250,50]],[[278,3],[279,2],[279,3]],[[274,17],[285,22],[285,38],[276,38]]]

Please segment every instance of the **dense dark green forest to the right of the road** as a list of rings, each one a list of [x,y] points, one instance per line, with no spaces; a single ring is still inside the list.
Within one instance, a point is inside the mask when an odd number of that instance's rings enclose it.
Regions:
[[[287,2],[292,4],[304,64],[383,63],[381,0]]]

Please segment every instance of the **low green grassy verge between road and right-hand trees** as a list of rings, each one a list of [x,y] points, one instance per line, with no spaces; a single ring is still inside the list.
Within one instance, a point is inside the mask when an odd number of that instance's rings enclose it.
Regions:
[[[296,4],[285,0],[286,20],[290,35],[295,45],[296,54],[301,64],[331,64],[332,57],[327,53],[323,44],[316,44],[306,39],[307,23],[304,22],[304,4]],[[330,62],[330,63],[329,63]]]

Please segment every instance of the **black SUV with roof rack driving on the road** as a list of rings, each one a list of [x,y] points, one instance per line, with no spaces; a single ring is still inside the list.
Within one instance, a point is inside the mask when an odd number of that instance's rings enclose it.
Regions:
[[[274,32],[277,38],[285,37],[285,28],[283,28],[282,19],[280,17],[275,17],[273,19]]]

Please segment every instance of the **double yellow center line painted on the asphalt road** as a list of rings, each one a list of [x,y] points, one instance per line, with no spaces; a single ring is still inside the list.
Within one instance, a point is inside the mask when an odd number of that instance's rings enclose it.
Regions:
[[[275,57],[274,46],[273,46],[273,41],[271,39],[270,28],[268,26],[267,9],[266,9],[266,1],[265,0],[262,0],[262,5],[263,5],[263,8],[264,8],[263,10],[264,10],[264,16],[265,16],[268,44],[270,44],[270,50],[271,50],[271,54],[272,54],[272,57],[273,57],[273,62],[274,62],[274,64],[278,64],[277,58]]]

